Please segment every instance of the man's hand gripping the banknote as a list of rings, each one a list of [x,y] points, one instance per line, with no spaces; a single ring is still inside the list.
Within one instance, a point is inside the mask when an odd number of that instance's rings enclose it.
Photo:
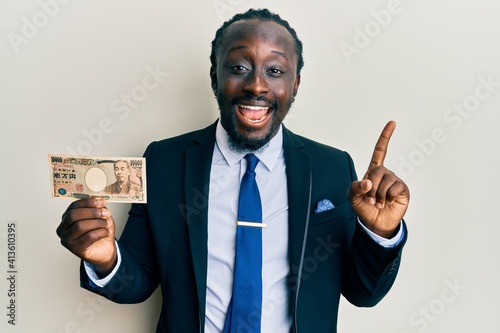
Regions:
[[[64,247],[93,264],[99,277],[116,265],[115,221],[105,199],[74,201],[64,212],[57,235]]]

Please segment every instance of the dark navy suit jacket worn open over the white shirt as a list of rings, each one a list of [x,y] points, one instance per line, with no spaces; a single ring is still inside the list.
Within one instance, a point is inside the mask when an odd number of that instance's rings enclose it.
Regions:
[[[148,146],[148,203],[132,205],[119,241],[118,273],[96,288],[82,270],[84,288],[118,303],[142,302],[161,284],[157,332],[203,331],[215,128]],[[336,332],[340,295],[356,306],[378,303],[394,282],[404,241],[385,249],[360,229],[346,197],[356,179],[347,153],[287,129],[283,135],[292,331]],[[336,208],[314,213],[322,199]]]

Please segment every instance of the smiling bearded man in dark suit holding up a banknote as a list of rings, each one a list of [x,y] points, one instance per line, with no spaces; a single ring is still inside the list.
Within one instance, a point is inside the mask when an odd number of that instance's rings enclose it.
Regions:
[[[147,148],[148,204],[132,205],[119,241],[105,201],[85,199],[63,214],[61,242],[85,262],[82,286],[115,302],[144,301],[161,284],[157,332],[336,332],[340,295],[373,306],[399,267],[409,190],[383,166],[395,124],[361,181],[347,153],[284,128],[302,44],[267,10],[224,23],[211,62],[220,121]],[[235,315],[235,221],[249,172],[262,205],[262,228],[252,229],[262,245],[251,248],[262,251],[261,299]]]

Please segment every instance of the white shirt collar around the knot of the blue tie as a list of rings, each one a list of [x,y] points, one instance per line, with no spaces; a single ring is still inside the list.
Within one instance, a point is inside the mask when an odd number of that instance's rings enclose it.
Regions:
[[[215,141],[219,147],[222,156],[226,160],[227,164],[230,166],[238,163],[246,154],[237,153],[229,149],[229,135],[227,131],[222,127],[220,120],[217,122],[217,129],[215,131]],[[281,152],[283,150],[283,130],[282,125],[280,125],[278,133],[269,141],[268,145],[255,153],[255,156],[259,158],[259,161],[271,171],[278,160]]]

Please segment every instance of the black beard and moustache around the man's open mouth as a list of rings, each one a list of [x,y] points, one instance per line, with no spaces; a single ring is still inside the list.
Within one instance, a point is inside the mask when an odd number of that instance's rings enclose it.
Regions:
[[[236,126],[237,120],[236,120],[236,114],[234,111],[235,106],[238,104],[238,100],[244,100],[244,101],[266,101],[270,105],[272,105],[272,110],[270,111],[268,117],[271,117],[271,128],[265,135],[260,136],[260,137],[249,137],[241,134]],[[219,103],[219,109],[229,109],[231,110],[230,112],[220,112],[220,121],[224,129],[226,130],[228,136],[229,136],[229,149],[236,153],[258,153],[264,149],[266,149],[267,145],[269,144],[269,141],[276,135],[276,133],[279,130],[279,127],[284,119],[279,119],[278,118],[278,112],[279,110],[279,104],[278,102],[272,102],[270,103],[269,100],[267,100],[265,97],[233,97],[231,101],[229,102],[229,105],[224,105],[222,98],[220,98],[220,95],[217,95],[217,102]],[[292,101],[287,102],[287,110],[289,110],[290,106],[292,104]],[[252,129],[249,129],[251,132]],[[257,130],[255,130],[257,131]]]

